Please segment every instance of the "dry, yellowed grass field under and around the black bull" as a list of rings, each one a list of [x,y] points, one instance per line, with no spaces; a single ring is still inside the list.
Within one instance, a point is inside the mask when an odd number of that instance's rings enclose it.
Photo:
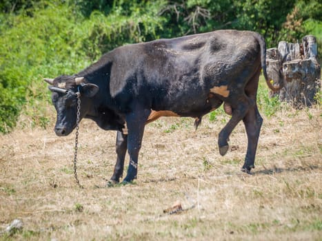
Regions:
[[[246,137],[234,130],[219,155],[228,116],[162,118],[145,129],[134,185],[104,187],[116,159],[115,132],[80,127],[79,179],[74,135],[52,127],[17,129],[0,140],[0,240],[321,240],[321,110],[282,109],[265,118],[254,175],[240,171]],[[179,200],[184,211],[163,209]]]

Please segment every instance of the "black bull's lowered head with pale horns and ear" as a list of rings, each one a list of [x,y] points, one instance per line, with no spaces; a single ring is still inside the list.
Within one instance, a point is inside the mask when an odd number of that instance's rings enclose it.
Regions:
[[[57,121],[54,132],[57,136],[67,136],[77,124],[77,98],[81,98],[79,120],[89,111],[92,97],[97,94],[99,87],[86,83],[83,77],[62,75],[57,78],[44,78],[49,83],[52,92],[52,104],[57,111]]]

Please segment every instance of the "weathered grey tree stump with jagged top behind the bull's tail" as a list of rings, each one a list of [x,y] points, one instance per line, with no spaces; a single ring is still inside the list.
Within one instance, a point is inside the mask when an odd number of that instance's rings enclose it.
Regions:
[[[321,65],[318,61],[317,44],[313,35],[303,37],[302,43],[279,42],[278,48],[266,52],[268,77],[273,85],[280,85],[278,92],[281,101],[295,107],[310,106],[316,103],[316,93],[321,88]]]

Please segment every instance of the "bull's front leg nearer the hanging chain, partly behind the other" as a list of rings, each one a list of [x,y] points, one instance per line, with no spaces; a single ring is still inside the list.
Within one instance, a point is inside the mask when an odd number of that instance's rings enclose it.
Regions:
[[[115,151],[117,152],[117,163],[114,167],[114,173],[110,182],[113,184],[119,183],[119,179],[123,176],[124,159],[126,150],[128,149],[128,134],[117,132],[117,141],[115,144]]]

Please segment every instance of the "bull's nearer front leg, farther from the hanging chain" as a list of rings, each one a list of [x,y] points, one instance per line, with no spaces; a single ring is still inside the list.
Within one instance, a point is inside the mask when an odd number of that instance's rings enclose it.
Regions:
[[[123,184],[137,178],[138,156],[141,149],[145,123],[150,113],[150,109],[143,109],[142,107],[137,106],[134,108],[133,112],[126,116],[130,164],[128,166],[128,174],[125,176]]]

